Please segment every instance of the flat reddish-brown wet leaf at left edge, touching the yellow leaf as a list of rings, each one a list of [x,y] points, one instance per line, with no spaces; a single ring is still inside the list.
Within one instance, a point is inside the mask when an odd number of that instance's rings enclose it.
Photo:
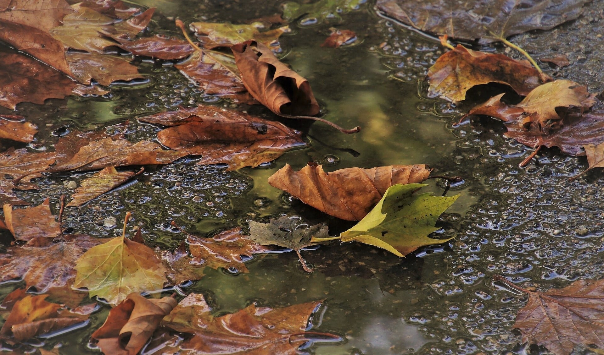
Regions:
[[[0,254],[0,281],[22,278],[25,288],[34,287],[36,292],[48,294],[54,300],[77,306],[86,296],[72,289],[77,259],[86,250],[103,242],[89,236],[71,236],[68,240],[9,247]]]

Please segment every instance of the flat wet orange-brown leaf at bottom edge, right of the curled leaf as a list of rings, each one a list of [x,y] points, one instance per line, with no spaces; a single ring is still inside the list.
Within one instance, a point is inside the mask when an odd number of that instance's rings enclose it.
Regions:
[[[329,333],[306,332],[309,317],[320,302],[280,309],[254,304],[236,313],[214,317],[204,297],[190,294],[179,302],[163,325],[192,338],[181,344],[182,354],[295,355],[312,336],[339,341]]]

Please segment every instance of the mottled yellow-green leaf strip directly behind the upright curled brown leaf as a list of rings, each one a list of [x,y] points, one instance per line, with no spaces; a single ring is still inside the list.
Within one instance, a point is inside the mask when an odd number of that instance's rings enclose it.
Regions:
[[[281,34],[289,33],[292,30],[289,26],[275,28],[274,30],[260,31],[265,28],[262,22],[252,22],[251,24],[234,25],[229,23],[212,22],[192,22],[191,30],[195,31],[199,42],[204,48],[213,49],[217,47],[230,47],[246,40],[256,40],[263,45],[271,48],[275,53],[282,51],[279,43]]]

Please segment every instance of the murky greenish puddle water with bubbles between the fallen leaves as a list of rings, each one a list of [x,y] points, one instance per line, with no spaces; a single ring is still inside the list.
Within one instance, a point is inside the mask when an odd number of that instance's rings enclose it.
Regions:
[[[158,7],[153,31],[171,31],[172,16],[243,23],[278,12],[280,2],[140,4]],[[440,234],[455,237],[445,245],[400,259],[357,243],[333,243],[303,251],[316,269],[313,274],[300,268],[294,253],[269,254],[249,262],[249,274],[207,269],[202,280],[184,291],[206,295],[220,314],[252,302],[288,306],[325,300],[321,316],[313,319],[315,330],[331,331],[344,340],[305,350],[314,354],[539,353],[520,345],[511,330],[525,298],[493,286],[491,277],[503,274],[538,289],[601,278],[604,183],[599,172],[569,182],[568,177],[585,168],[585,159],[565,157],[555,149],[543,151],[536,163],[520,169],[527,149],[502,137],[501,124],[483,119],[453,128],[467,107],[424,95],[422,80],[442,52],[439,44],[376,16],[373,4],[342,15],[341,21],[291,25],[294,31],[281,37],[283,61],[310,81],[325,118],[344,127],[361,125],[361,133],[347,136],[315,123],[308,132],[308,148],[236,172],[199,167],[186,158],[149,168],[133,183],[81,209],[67,210],[65,227],[91,236],[116,236],[125,213],[132,212],[132,223],[143,228],[150,245],[175,248],[184,235],[170,227],[171,221],[207,236],[245,226],[250,219],[287,213],[313,223],[327,221],[334,234],[348,224],[291,201],[266,179],[285,163],[300,169],[313,161],[323,163],[327,171],[425,163],[439,175],[465,180],[448,192],[462,196],[442,217]],[[339,49],[321,47],[333,25],[356,31],[359,42]],[[31,148],[47,147],[57,132],[102,128],[125,119],[130,119],[127,134],[132,140],[153,139],[158,129],[138,123],[137,117],[196,102],[228,105],[200,92],[172,66],[144,61],[141,72],[148,74],[146,82],[115,89],[106,98],[20,104],[18,114],[40,127]],[[265,110],[251,107],[249,112]],[[42,192],[22,192],[21,197],[38,204],[51,196],[57,207],[60,195],[69,193],[68,181],[89,175],[45,177],[39,180]],[[429,183],[429,190],[443,193],[435,180]],[[2,237],[8,245],[10,235]],[[19,286],[2,284],[0,295]],[[88,339],[108,310],[103,307],[92,315],[89,327],[45,339],[43,346],[61,343],[62,354],[97,353]]]

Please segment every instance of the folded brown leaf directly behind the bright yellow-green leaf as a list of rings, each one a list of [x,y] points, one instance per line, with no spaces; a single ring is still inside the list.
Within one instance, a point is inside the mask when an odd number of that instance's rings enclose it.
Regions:
[[[309,164],[296,172],[286,164],[268,178],[268,183],[328,215],[359,221],[379,202],[388,187],[421,183],[430,171],[425,165],[390,165],[326,173],[322,165]]]

